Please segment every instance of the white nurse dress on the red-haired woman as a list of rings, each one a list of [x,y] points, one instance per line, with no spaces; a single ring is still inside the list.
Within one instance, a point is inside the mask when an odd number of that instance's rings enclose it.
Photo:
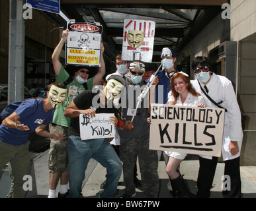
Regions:
[[[169,101],[173,101],[173,100],[169,100]],[[193,106],[193,107],[197,107],[198,104],[204,104],[204,98],[202,96],[193,96],[191,93],[188,94],[186,100],[184,103],[181,102],[181,95],[179,95],[178,99],[177,99],[177,104],[175,104],[175,106]],[[169,152],[169,151],[165,151],[165,154],[167,154],[167,156],[169,157],[173,157],[173,158],[177,158],[180,160],[184,160],[187,156],[187,153],[182,153],[182,152]]]

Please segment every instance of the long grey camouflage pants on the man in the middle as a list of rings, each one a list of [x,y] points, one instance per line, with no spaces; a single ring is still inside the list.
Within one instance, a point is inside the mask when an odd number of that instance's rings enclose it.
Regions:
[[[159,177],[157,173],[157,151],[149,150],[149,135],[141,138],[120,138],[120,159],[123,162],[125,193],[133,195],[134,166],[139,159],[142,185],[147,198],[157,198]]]

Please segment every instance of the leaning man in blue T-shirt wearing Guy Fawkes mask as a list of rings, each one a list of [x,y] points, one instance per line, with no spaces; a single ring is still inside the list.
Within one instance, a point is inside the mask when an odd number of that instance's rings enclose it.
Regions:
[[[9,162],[12,179],[10,198],[23,198],[23,177],[29,174],[30,154],[28,135],[35,131],[37,135],[62,140],[64,135],[52,134],[46,131],[46,126],[52,123],[54,109],[65,99],[66,86],[61,82],[53,82],[49,86],[46,99],[28,99],[3,120],[0,125],[0,167],[3,169]],[[0,178],[3,171],[0,171]]]

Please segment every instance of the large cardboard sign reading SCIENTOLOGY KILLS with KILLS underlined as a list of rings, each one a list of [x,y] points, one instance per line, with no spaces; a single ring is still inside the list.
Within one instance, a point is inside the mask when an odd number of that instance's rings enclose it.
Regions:
[[[220,157],[224,109],[151,104],[149,149]]]

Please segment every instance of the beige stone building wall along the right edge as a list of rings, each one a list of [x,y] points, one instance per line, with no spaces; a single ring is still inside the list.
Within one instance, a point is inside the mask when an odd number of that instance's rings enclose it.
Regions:
[[[238,43],[237,99],[247,115],[241,165],[256,166],[256,1],[232,0],[230,5],[230,36]]]

